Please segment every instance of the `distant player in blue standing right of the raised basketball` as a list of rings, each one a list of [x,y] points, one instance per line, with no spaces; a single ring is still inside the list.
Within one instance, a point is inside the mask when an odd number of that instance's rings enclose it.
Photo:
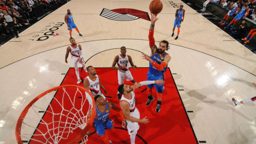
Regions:
[[[180,9],[177,9],[175,13],[175,21],[174,21],[174,28],[172,29],[172,37],[174,36],[174,30],[176,26],[178,28],[178,34],[180,33],[180,26],[181,26],[181,22],[184,20],[184,16],[185,16],[185,10],[183,9],[183,5],[180,5]],[[175,39],[178,39],[178,34]]]

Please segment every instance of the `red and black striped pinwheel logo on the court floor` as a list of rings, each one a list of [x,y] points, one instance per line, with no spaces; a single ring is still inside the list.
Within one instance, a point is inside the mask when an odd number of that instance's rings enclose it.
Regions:
[[[132,21],[139,18],[150,21],[148,12],[135,10],[135,9],[103,9],[100,16],[106,17],[115,21]]]

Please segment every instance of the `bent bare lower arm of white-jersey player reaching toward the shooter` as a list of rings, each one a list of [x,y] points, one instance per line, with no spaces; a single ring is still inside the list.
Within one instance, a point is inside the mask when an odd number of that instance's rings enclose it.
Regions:
[[[120,106],[122,108],[122,111],[123,111],[123,114],[124,114],[124,117],[128,120],[128,121],[131,121],[131,122],[138,122],[138,123],[148,123],[149,120],[144,117],[143,119],[138,119],[138,118],[135,118],[135,117],[132,117],[130,116],[130,110],[129,110],[129,103],[126,102],[126,101],[121,101],[120,102]]]

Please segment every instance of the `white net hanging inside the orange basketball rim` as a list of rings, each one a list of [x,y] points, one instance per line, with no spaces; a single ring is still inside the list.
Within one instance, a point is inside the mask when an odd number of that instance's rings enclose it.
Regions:
[[[26,125],[25,129],[32,128],[34,133],[27,134],[27,130],[22,129],[22,139],[28,140],[30,144],[63,144],[85,128],[89,120],[87,114],[92,110],[92,99],[85,90],[78,87],[62,87],[54,96],[47,93],[42,98],[46,98],[48,107],[42,108],[37,106],[37,103],[30,107],[30,114],[23,119],[22,127]],[[38,113],[40,111],[44,112],[43,116]],[[36,114],[31,114],[32,112]],[[81,143],[86,144],[87,136]]]

